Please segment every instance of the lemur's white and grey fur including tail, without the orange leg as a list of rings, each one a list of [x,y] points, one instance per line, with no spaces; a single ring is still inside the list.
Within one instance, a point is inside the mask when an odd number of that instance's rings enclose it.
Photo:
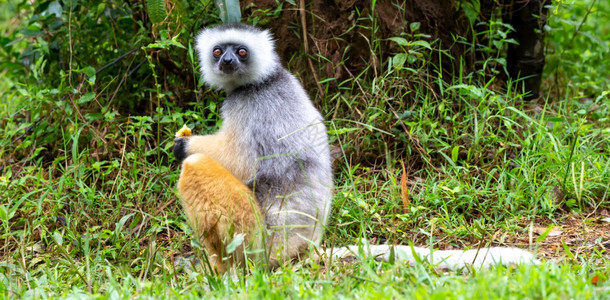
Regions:
[[[215,46],[224,44],[245,45],[250,55],[231,74],[219,70],[218,59],[212,55]],[[204,153],[228,170],[229,176],[253,188],[266,227],[279,232],[267,239],[267,250],[272,255],[283,252],[284,259],[301,259],[307,248],[319,247],[332,201],[331,158],[321,115],[299,81],[281,66],[268,31],[240,24],[208,28],[197,36],[196,49],[204,81],[227,92],[221,108],[223,124],[213,135],[189,137],[174,153]],[[220,198],[200,197],[202,202]],[[360,249],[387,261],[392,248],[396,260],[414,263],[416,254],[446,268],[537,262],[534,255],[518,248],[431,252],[401,245],[365,245]],[[315,252],[326,257],[359,253],[357,246]]]

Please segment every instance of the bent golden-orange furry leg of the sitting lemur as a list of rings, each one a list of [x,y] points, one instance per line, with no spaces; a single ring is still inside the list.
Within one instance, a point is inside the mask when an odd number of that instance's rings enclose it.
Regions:
[[[257,233],[263,227],[258,202],[248,187],[210,156],[196,153],[184,160],[178,192],[217,272],[227,270],[225,257],[229,264],[243,265],[244,246],[260,248]],[[227,255],[226,246],[240,233],[245,235],[244,243]]]

